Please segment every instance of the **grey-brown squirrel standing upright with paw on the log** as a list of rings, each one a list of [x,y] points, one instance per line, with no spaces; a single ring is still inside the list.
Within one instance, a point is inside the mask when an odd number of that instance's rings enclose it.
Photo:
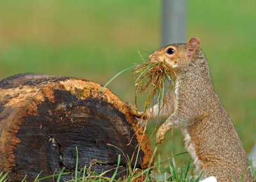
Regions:
[[[167,116],[156,133],[156,144],[172,127],[181,129],[185,147],[196,169],[203,171],[201,180],[215,177],[217,181],[253,181],[248,158],[232,120],[212,86],[209,66],[200,49],[200,39],[174,43],[148,56],[152,62],[164,62],[175,73],[175,86],[170,102],[161,109]],[[156,118],[158,105],[145,114],[128,105],[137,118]],[[234,175],[234,176],[233,176]]]

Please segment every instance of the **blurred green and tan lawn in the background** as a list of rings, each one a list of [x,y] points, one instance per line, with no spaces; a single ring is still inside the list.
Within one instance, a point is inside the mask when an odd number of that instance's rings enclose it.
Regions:
[[[248,153],[256,140],[256,1],[188,0],[187,40],[198,36],[214,87]],[[161,40],[160,0],[0,0],[0,79],[45,73],[105,84],[141,63]],[[134,103],[131,72],[109,89]],[[140,109],[143,98],[140,98]],[[154,121],[148,125],[150,134]],[[184,151],[180,130],[158,146],[162,157]],[[150,138],[154,148],[154,135]]]

